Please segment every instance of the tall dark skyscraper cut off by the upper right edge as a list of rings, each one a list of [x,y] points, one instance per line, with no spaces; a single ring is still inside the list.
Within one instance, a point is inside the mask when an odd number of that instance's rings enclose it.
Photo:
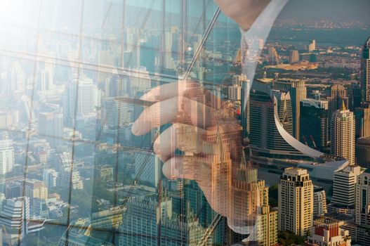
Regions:
[[[363,101],[370,103],[370,37],[362,48],[361,89],[363,93]]]

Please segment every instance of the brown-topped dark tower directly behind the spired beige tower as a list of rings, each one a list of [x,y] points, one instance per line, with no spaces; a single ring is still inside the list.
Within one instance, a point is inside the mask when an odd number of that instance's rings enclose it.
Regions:
[[[342,108],[343,102],[345,108],[348,108],[347,90],[341,84],[336,84],[330,88],[330,96],[327,97],[329,102],[329,119],[333,116],[333,112]]]

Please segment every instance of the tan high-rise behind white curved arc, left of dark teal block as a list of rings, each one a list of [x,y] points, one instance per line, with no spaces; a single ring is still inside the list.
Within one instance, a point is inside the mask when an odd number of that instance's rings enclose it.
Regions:
[[[278,79],[274,87],[279,91],[290,92],[293,115],[293,137],[299,139],[300,101],[307,98],[305,82],[299,79]]]

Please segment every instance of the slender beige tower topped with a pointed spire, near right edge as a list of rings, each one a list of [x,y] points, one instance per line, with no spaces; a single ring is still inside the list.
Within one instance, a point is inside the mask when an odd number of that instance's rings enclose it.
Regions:
[[[355,116],[345,108],[336,110],[331,118],[331,154],[344,157],[355,164]]]

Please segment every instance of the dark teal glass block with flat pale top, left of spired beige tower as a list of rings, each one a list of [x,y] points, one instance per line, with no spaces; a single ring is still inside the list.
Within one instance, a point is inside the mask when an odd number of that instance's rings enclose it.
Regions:
[[[305,99],[300,101],[300,142],[323,150],[329,145],[328,102]]]

